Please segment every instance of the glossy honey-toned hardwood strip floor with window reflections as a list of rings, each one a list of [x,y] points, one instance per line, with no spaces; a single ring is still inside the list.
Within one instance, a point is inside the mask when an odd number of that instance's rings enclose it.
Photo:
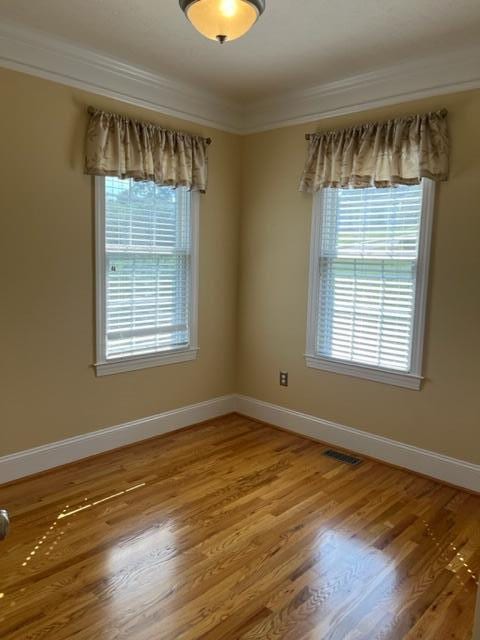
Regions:
[[[480,498],[227,416],[0,487],[3,640],[467,640]]]

